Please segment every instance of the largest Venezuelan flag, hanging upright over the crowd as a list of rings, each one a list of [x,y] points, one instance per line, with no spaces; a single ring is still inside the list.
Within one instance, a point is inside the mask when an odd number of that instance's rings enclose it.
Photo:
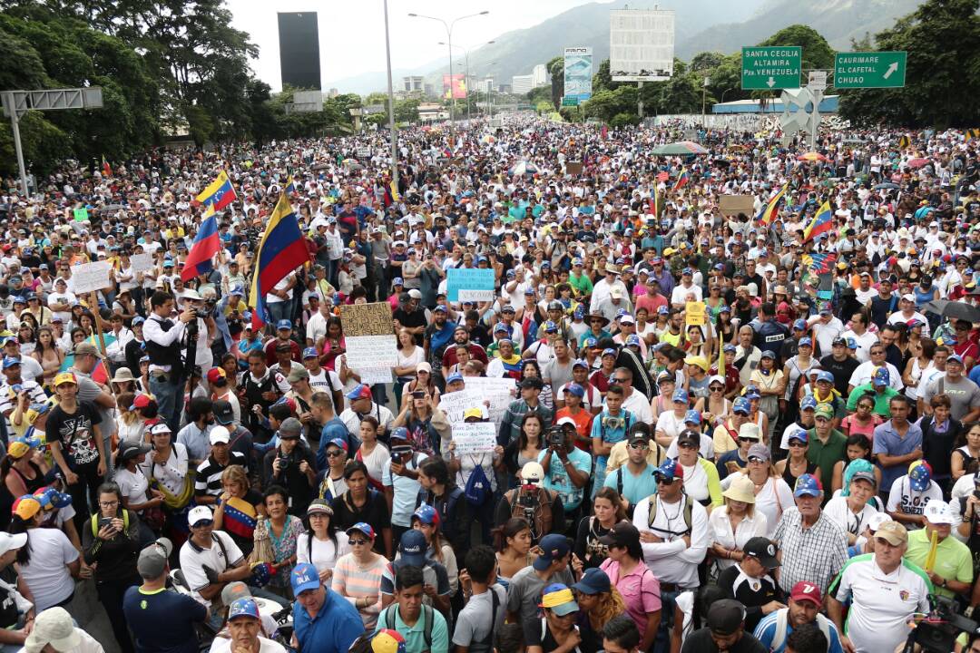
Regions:
[[[253,325],[261,326],[267,321],[266,294],[272,290],[272,286],[309,260],[310,252],[307,250],[303,232],[300,231],[296,214],[283,193],[272,210],[266,225],[266,234],[262,237],[255,256],[256,272],[252,277],[252,291],[249,295],[249,305],[255,308],[252,311]]]

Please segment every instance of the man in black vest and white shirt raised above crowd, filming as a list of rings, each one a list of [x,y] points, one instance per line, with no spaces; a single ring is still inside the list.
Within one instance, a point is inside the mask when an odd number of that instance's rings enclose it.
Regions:
[[[188,307],[172,320],[173,296],[157,291],[150,297],[150,315],[143,324],[146,352],[150,356],[150,392],[157,398],[160,416],[176,433],[180,427],[179,412],[183,395],[183,360],[181,341],[187,325],[198,327],[197,312]],[[196,336],[197,334],[195,334]]]

